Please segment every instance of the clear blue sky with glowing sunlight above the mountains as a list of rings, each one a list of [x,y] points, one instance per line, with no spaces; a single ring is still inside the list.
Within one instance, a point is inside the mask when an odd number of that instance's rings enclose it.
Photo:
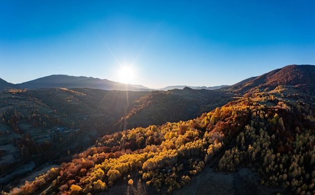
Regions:
[[[314,9],[312,0],[0,0],[0,78],[234,84],[289,64],[315,64]],[[133,79],[121,76],[123,66]]]

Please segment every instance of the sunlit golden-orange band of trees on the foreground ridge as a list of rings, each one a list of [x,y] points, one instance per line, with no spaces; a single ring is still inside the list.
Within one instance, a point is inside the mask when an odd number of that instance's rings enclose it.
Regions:
[[[61,165],[51,192],[106,190],[131,172],[147,187],[171,192],[189,183],[244,128],[248,110],[239,101],[194,120],[106,135]]]

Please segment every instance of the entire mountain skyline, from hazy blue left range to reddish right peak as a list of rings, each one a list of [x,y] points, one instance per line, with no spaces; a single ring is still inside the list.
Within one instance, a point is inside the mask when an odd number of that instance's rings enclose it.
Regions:
[[[93,88],[103,90],[130,90],[130,91],[153,91],[172,90],[189,87],[192,89],[222,89],[233,92],[249,92],[254,87],[271,89],[278,85],[286,85],[299,88],[304,92],[315,89],[315,66],[313,65],[288,65],[283,68],[272,70],[260,76],[254,76],[242,80],[233,85],[220,86],[188,86],[175,85],[160,89],[152,89],[143,85],[123,84],[108,79],[100,79],[86,76],[50,75],[20,84],[9,83],[0,78],[0,90],[4,89],[39,89],[39,88]]]

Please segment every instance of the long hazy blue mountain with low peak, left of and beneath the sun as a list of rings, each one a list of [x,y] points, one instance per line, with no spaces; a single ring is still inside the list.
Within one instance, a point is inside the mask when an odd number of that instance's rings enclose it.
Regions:
[[[85,76],[50,75],[28,82],[16,84],[17,88],[95,88],[104,90],[148,90],[142,85],[130,85],[107,79],[99,79]]]

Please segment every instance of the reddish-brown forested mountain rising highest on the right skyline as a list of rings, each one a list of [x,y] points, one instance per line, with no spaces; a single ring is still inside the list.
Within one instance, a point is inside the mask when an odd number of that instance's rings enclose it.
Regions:
[[[273,90],[278,86],[285,86],[292,90],[314,92],[314,65],[288,65],[272,70],[261,76],[251,77],[231,86],[223,87],[231,92],[246,93],[257,88],[261,91]]]

